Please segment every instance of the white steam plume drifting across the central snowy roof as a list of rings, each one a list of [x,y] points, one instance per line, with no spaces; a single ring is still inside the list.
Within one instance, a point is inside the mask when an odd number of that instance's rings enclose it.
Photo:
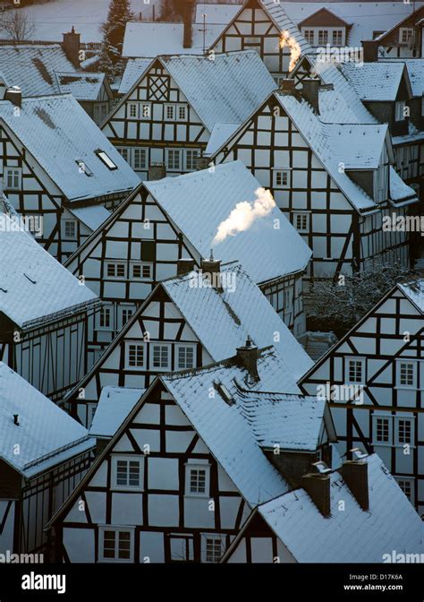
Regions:
[[[256,201],[242,201],[235,205],[228,218],[219,224],[212,245],[222,243],[227,236],[248,230],[256,219],[265,218],[276,207],[269,190],[258,188],[255,194],[258,197]]]

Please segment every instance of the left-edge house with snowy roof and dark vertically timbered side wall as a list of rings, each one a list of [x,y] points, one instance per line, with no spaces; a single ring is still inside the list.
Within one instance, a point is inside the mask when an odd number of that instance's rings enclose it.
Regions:
[[[0,213],[0,359],[52,400],[86,374],[98,297]]]

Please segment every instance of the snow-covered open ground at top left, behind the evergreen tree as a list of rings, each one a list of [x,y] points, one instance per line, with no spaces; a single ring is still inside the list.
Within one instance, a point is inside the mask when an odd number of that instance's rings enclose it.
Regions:
[[[131,0],[131,9],[136,17],[151,19],[153,6],[157,16],[162,0]],[[72,25],[81,33],[81,42],[100,42],[100,25],[106,21],[109,0],[51,0],[46,4],[32,4],[25,10],[35,30],[30,39],[62,41],[64,31]],[[2,38],[7,36],[2,32]]]

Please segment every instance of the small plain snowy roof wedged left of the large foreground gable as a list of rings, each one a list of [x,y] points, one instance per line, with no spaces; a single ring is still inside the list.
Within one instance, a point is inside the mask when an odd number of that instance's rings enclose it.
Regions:
[[[128,387],[103,387],[89,434],[93,437],[113,437],[144,391]]]

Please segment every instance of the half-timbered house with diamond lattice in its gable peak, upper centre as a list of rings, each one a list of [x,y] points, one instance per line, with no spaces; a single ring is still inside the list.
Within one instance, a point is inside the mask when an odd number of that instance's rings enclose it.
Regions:
[[[142,180],[165,165],[195,171],[216,127],[242,124],[276,88],[253,51],[159,56],[114,107],[102,131]]]

